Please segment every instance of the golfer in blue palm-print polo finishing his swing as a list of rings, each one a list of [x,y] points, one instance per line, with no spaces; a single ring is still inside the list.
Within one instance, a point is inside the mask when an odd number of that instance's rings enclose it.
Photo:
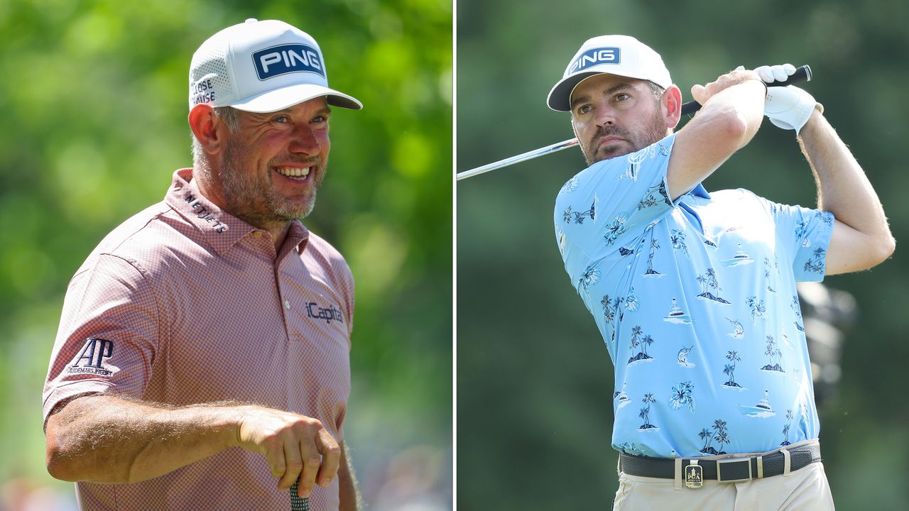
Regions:
[[[660,55],[604,35],[549,93],[590,165],[556,198],[555,238],[615,366],[614,509],[834,508],[795,282],[875,266],[894,238],[823,106],[773,86],[793,72],[694,85],[704,107],[674,133]],[[701,185],[763,115],[795,131],[817,209]]]

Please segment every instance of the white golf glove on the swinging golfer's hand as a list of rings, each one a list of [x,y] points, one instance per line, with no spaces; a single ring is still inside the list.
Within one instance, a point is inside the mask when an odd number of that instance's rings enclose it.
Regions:
[[[804,90],[794,85],[772,86],[774,82],[782,82],[789,76],[794,75],[794,65],[761,65],[755,68],[754,72],[768,85],[767,99],[764,102],[764,115],[775,126],[783,129],[794,129],[795,135],[798,135],[804,124],[811,118],[814,108],[817,108],[822,114],[824,113],[824,105],[815,101],[814,96],[804,92]]]

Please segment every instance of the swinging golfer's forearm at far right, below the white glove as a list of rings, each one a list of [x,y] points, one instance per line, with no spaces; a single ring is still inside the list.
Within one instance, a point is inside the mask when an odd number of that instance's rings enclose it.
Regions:
[[[815,110],[798,140],[817,181],[818,208],[868,236],[871,247],[893,245],[881,200],[824,115]]]

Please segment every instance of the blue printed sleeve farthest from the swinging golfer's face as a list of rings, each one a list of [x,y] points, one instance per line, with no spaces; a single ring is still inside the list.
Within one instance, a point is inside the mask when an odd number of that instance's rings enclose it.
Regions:
[[[824,261],[834,232],[834,214],[800,205],[766,203],[774,216],[778,246],[787,250],[793,262],[795,281],[824,280]]]

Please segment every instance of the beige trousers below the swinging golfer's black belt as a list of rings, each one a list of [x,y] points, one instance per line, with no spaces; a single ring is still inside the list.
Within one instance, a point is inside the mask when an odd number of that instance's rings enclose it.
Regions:
[[[704,481],[696,489],[676,489],[672,479],[619,473],[613,511],[693,509],[697,511],[828,511],[834,497],[818,462],[785,476],[744,483]]]

